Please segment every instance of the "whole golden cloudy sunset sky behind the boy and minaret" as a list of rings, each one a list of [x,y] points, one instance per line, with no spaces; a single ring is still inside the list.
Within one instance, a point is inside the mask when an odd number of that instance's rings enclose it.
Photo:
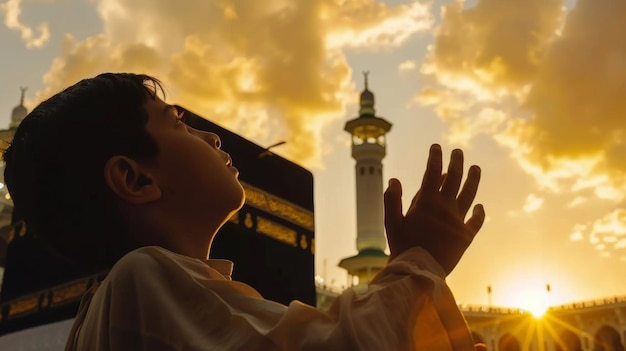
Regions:
[[[384,181],[402,181],[405,203],[432,143],[482,168],[487,219],[448,277],[460,303],[626,295],[626,1],[4,0],[0,19],[0,127],[21,86],[31,109],[129,71],[260,145],[287,141],[274,151],[314,175],[331,286],[356,253],[343,126],[369,71],[393,124]]]

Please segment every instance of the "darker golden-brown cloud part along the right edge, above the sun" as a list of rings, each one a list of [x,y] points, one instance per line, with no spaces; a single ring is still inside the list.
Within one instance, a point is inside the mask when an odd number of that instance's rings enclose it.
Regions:
[[[529,157],[594,160],[578,189],[587,182],[598,197],[614,200],[626,195],[624,13],[622,1],[579,1],[525,102],[535,115]]]

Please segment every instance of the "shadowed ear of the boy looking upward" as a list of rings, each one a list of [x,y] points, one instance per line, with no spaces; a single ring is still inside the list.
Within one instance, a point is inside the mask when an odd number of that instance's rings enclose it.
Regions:
[[[117,155],[108,159],[104,179],[109,189],[129,204],[146,204],[161,198],[161,188],[152,175],[129,157]]]

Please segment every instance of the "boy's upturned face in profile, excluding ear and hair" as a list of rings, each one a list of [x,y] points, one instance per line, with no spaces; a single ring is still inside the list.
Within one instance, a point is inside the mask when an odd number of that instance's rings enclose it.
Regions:
[[[146,130],[159,146],[149,167],[166,208],[188,225],[223,223],[242,206],[245,196],[230,156],[220,150],[219,137],[187,126],[173,106],[158,98],[148,99],[146,110]]]

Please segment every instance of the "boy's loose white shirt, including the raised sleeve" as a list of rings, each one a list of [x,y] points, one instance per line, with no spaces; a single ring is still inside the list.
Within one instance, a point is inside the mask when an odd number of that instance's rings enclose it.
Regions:
[[[229,261],[137,249],[85,294],[66,350],[474,350],[442,268],[421,248],[327,313],[265,300],[231,272]]]

